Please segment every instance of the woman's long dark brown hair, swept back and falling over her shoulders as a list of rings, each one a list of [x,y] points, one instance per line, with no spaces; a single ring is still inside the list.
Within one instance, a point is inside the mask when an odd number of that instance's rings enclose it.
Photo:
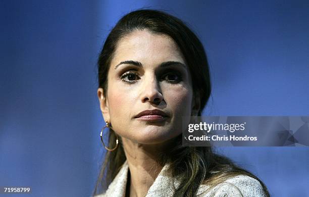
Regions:
[[[98,58],[98,84],[104,96],[108,89],[110,63],[121,38],[135,30],[147,30],[153,34],[170,36],[180,48],[192,76],[193,96],[199,94],[200,110],[207,104],[211,95],[209,65],[204,48],[197,36],[178,18],[157,10],[137,10],[123,16],[108,35]],[[109,147],[116,145],[115,132],[110,132]],[[264,183],[250,172],[237,167],[226,157],[217,155],[212,147],[184,147],[182,136],[174,140],[173,149],[162,153],[160,162],[169,163],[169,170],[180,181],[174,196],[195,196],[200,184],[211,187],[237,175],[247,175],[257,179],[269,196]],[[93,195],[104,192],[113,181],[126,160],[121,138],[118,148],[107,152],[93,191]]]

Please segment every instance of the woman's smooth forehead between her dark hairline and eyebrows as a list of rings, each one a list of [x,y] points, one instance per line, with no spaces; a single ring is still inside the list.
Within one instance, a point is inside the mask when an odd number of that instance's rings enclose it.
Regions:
[[[142,64],[160,64],[165,61],[185,64],[179,47],[171,37],[147,30],[135,30],[119,40],[112,65],[126,60],[140,61]]]

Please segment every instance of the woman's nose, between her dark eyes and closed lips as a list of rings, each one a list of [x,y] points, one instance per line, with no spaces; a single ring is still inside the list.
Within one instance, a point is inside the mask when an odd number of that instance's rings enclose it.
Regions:
[[[148,78],[144,80],[141,93],[142,103],[150,102],[155,105],[159,105],[163,100],[163,95],[161,93],[159,81],[155,78]]]

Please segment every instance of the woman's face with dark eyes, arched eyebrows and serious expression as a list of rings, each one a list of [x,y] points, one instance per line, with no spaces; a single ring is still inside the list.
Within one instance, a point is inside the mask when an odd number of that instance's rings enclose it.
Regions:
[[[191,76],[177,44],[166,35],[135,30],[116,48],[101,111],[114,131],[142,144],[167,141],[182,133],[193,108]],[[159,110],[140,114],[145,110]],[[161,112],[161,113],[160,113]]]

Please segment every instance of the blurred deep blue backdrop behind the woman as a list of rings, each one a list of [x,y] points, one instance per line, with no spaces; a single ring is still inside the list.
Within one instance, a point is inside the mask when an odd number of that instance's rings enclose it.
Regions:
[[[97,56],[139,8],[179,17],[204,43],[213,92],[203,115],[309,115],[308,1],[1,1],[0,185],[91,195],[104,153]],[[309,196],[308,147],[218,151],[274,196]]]

